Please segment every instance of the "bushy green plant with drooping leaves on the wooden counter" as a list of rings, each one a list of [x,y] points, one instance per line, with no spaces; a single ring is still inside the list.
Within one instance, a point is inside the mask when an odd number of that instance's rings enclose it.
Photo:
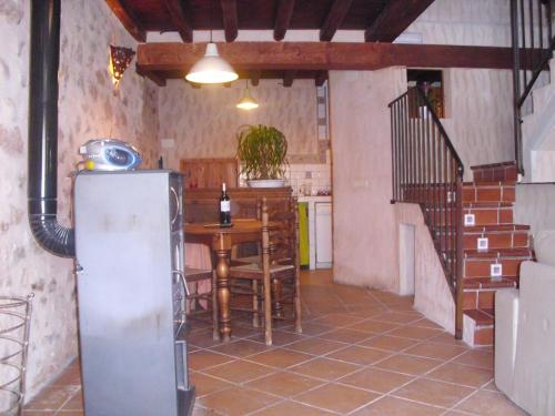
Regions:
[[[236,156],[246,179],[281,179],[287,164],[286,154],[287,141],[278,129],[262,124],[239,128]]]

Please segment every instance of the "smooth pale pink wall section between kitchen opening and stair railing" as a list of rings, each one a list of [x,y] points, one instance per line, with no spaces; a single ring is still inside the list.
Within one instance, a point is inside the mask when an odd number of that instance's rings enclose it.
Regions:
[[[387,103],[405,89],[403,69],[330,72],[336,282],[395,290]]]

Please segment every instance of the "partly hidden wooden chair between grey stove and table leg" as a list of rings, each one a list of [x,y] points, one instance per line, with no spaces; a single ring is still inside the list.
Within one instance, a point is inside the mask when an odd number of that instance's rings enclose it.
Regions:
[[[191,316],[199,312],[204,312],[199,304],[200,301],[205,301],[206,304],[212,306],[212,327],[214,334],[219,334],[218,321],[218,298],[216,298],[216,282],[215,273],[212,270],[185,267],[185,315]],[[209,281],[211,291],[206,293],[199,293],[196,290],[191,291],[192,284],[198,284],[202,281]],[[194,303],[194,307],[192,304]],[[215,336],[215,335],[214,335]],[[218,335],[219,336],[219,335]]]

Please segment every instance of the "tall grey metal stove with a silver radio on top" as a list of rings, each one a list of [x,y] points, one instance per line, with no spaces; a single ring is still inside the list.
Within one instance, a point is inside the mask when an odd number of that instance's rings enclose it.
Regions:
[[[190,414],[182,179],[170,171],[75,180],[78,308],[87,416]]]

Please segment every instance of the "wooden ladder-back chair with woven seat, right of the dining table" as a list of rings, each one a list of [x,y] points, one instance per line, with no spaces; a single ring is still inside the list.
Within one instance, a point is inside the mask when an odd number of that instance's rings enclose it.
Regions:
[[[241,310],[252,312],[254,326],[260,324],[259,306],[263,302],[266,345],[272,345],[272,318],[285,317],[284,305],[292,306],[295,331],[302,332],[296,199],[290,199],[284,207],[270,213],[266,199],[262,200],[261,258],[230,267],[232,295],[251,296],[252,307]],[[240,282],[250,282],[250,286]]]

